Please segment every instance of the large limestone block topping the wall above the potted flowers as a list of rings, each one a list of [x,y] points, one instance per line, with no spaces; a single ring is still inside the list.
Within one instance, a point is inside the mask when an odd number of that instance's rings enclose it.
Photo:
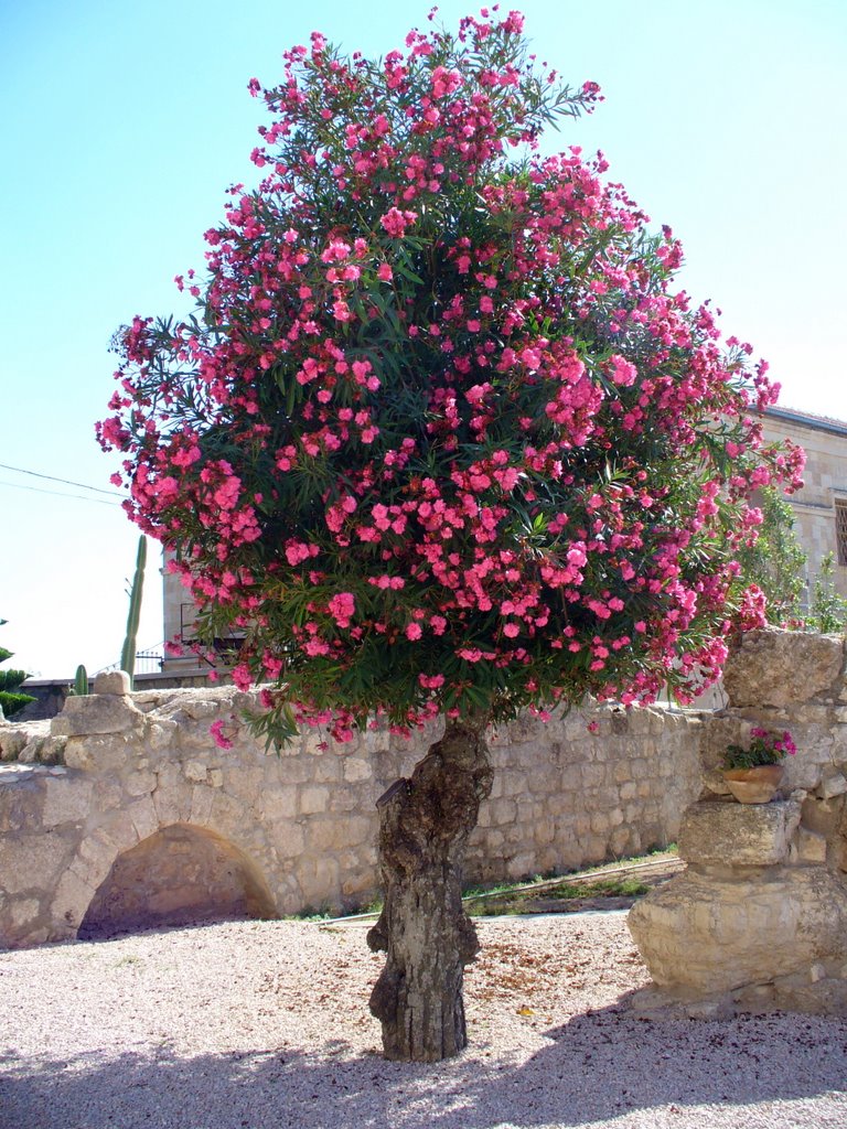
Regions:
[[[842,690],[844,639],[805,631],[746,631],[724,667],[724,689],[739,706],[835,701]]]

